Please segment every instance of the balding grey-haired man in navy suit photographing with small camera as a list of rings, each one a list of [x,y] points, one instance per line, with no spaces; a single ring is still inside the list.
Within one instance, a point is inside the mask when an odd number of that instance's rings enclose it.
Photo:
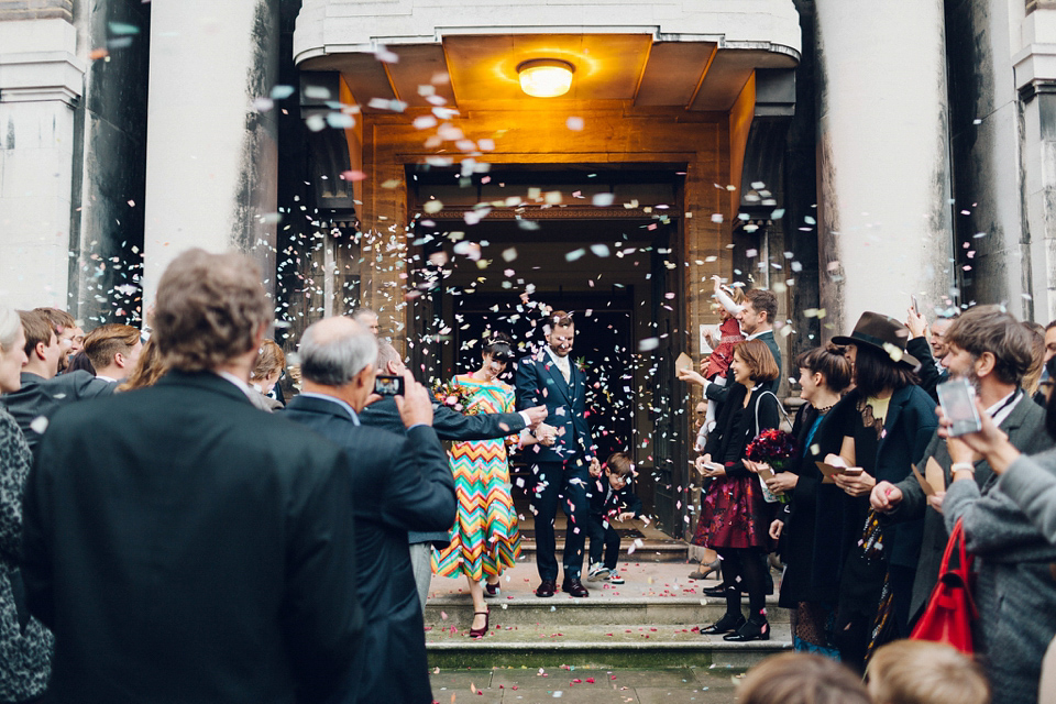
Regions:
[[[448,455],[430,427],[432,399],[405,372],[404,395],[391,397],[404,432],[361,426],[359,414],[374,389],[377,343],[350,318],[310,326],[299,353],[302,392],[283,415],[344,448],[352,476],[365,625],[349,679],[333,701],[429,704],[425,624],[407,531],[448,529],[457,505]]]

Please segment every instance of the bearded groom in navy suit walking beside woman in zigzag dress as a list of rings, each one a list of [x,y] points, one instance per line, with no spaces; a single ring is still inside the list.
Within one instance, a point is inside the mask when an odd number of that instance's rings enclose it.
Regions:
[[[517,406],[546,405],[547,418],[557,429],[552,446],[535,446],[532,509],[536,514],[536,566],[541,580],[536,596],[553,596],[557,590],[553,519],[562,496],[560,504],[569,527],[564,538],[564,582],[561,588],[572,596],[590,596],[580,576],[590,510],[586,501],[588,472],[597,459],[586,422],[586,376],[569,360],[575,338],[572,317],[561,310],[551,314],[546,336],[547,346],[539,354],[521,360],[516,375]]]

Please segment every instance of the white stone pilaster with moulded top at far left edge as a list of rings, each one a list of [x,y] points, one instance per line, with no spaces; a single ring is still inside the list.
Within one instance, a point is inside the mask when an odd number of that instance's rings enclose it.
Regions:
[[[65,309],[87,67],[68,10],[10,14],[0,14],[0,300]]]

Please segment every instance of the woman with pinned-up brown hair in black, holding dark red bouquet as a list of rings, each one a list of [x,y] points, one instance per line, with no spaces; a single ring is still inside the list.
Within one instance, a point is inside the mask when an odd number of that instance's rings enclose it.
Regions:
[[[843,438],[825,420],[850,385],[850,362],[845,348],[828,344],[800,354],[795,363],[800,370],[800,398],[806,402],[792,425],[795,451],[784,471],[771,468],[773,475],[766,480],[771,492],[791,497],[770,526],[770,536],[781,539],[785,564],[778,605],[790,609],[792,645],[796,650],[838,660],[839,651],[832,644],[837,583],[815,581],[813,566],[815,538],[824,546],[827,538],[838,535],[826,525],[829,517],[817,514],[818,492],[840,490],[835,484],[822,485],[824,477],[815,462],[829,452],[839,452]],[[828,543],[828,549],[821,552],[838,554],[839,547]]]

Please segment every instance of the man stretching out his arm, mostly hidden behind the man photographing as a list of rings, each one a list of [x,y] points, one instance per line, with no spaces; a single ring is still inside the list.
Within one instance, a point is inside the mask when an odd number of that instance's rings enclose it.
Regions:
[[[404,365],[399,353],[388,342],[380,340],[377,343],[377,369],[382,374],[404,374],[407,367]],[[505,438],[506,436],[520,432],[522,430],[537,430],[547,418],[547,407],[536,406],[516,414],[474,414],[463,416],[457,410],[444,406],[436,398],[432,399],[432,428],[441,440],[491,440],[492,438]],[[360,422],[364,426],[374,426],[384,428],[392,432],[405,433],[403,420],[399,417],[399,409],[392,397],[383,398],[363,409],[360,414]],[[542,426],[543,431],[552,433],[553,430]],[[418,587],[418,598],[421,604],[421,610],[426,610],[426,600],[429,596],[429,584],[432,581],[432,548],[442,550],[451,541],[451,522],[442,530],[417,531],[408,534],[407,540],[410,543],[410,563],[415,571],[415,584]]]

